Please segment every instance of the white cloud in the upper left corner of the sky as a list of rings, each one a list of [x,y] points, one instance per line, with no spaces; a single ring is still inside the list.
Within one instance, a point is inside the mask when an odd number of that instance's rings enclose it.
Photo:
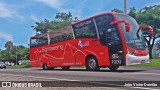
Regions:
[[[18,17],[23,19],[24,17],[17,14],[16,11],[8,4],[0,2],[0,18],[14,18]]]

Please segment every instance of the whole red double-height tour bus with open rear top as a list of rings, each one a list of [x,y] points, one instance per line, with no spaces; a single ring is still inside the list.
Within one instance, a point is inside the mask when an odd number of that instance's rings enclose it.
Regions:
[[[85,66],[87,70],[150,63],[148,48],[136,20],[114,12],[101,13],[30,39],[30,64],[44,70]],[[69,34],[71,33],[71,34]]]

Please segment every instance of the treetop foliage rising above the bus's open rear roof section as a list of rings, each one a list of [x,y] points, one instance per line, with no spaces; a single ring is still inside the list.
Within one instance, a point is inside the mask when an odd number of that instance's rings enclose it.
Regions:
[[[31,26],[36,34],[46,33],[48,29],[60,29],[70,24],[72,21],[77,21],[77,17],[72,17],[71,12],[68,13],[57,13],[54,20],[47,20],[36,22],[35,26]]]

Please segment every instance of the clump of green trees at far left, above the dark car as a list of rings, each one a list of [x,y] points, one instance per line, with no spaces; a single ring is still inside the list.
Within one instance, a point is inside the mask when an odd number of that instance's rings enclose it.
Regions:
[[[5,49],[0,50],[0,60],[15,62],[17,60],[28,60],[28,48],[23,45],[15,46],[13,42],[8,41],[5,44]]]

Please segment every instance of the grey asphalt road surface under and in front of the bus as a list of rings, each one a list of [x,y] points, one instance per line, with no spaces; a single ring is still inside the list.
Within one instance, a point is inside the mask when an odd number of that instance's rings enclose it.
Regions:
[[[10,75],[19,77],[32,77],[36,79],[45,79],[51,81],[71,81],[71,85],[75,82],[86,83],[88,85],[98,84],[108,85],[109,87],[119,87],[118,83],[109,83],[106,81],[160,81],[160,68],[119,68],[117,71],[110,71],[108,68],[100,71],[86,71],[85,68],[71,68],[70,70],[42,70],[41,68],[26,68],[26,69],[0,69],[0,75]],[[7,79],[10,81],[9,79]],[[1,80],[4,81],[4,80]],[[64,82],[63,82],[64,83]],[[80,84],[80,85],[81,85]],[[83,85],[82,85],[83,86]],[[71,86],[70,86],[71,87]],[[126,89],[120,87],[119,89]],[[128,87],[127,87],[128,89]],[[129,87],[129,89],[155,89],[160,90],[160,87]]]

